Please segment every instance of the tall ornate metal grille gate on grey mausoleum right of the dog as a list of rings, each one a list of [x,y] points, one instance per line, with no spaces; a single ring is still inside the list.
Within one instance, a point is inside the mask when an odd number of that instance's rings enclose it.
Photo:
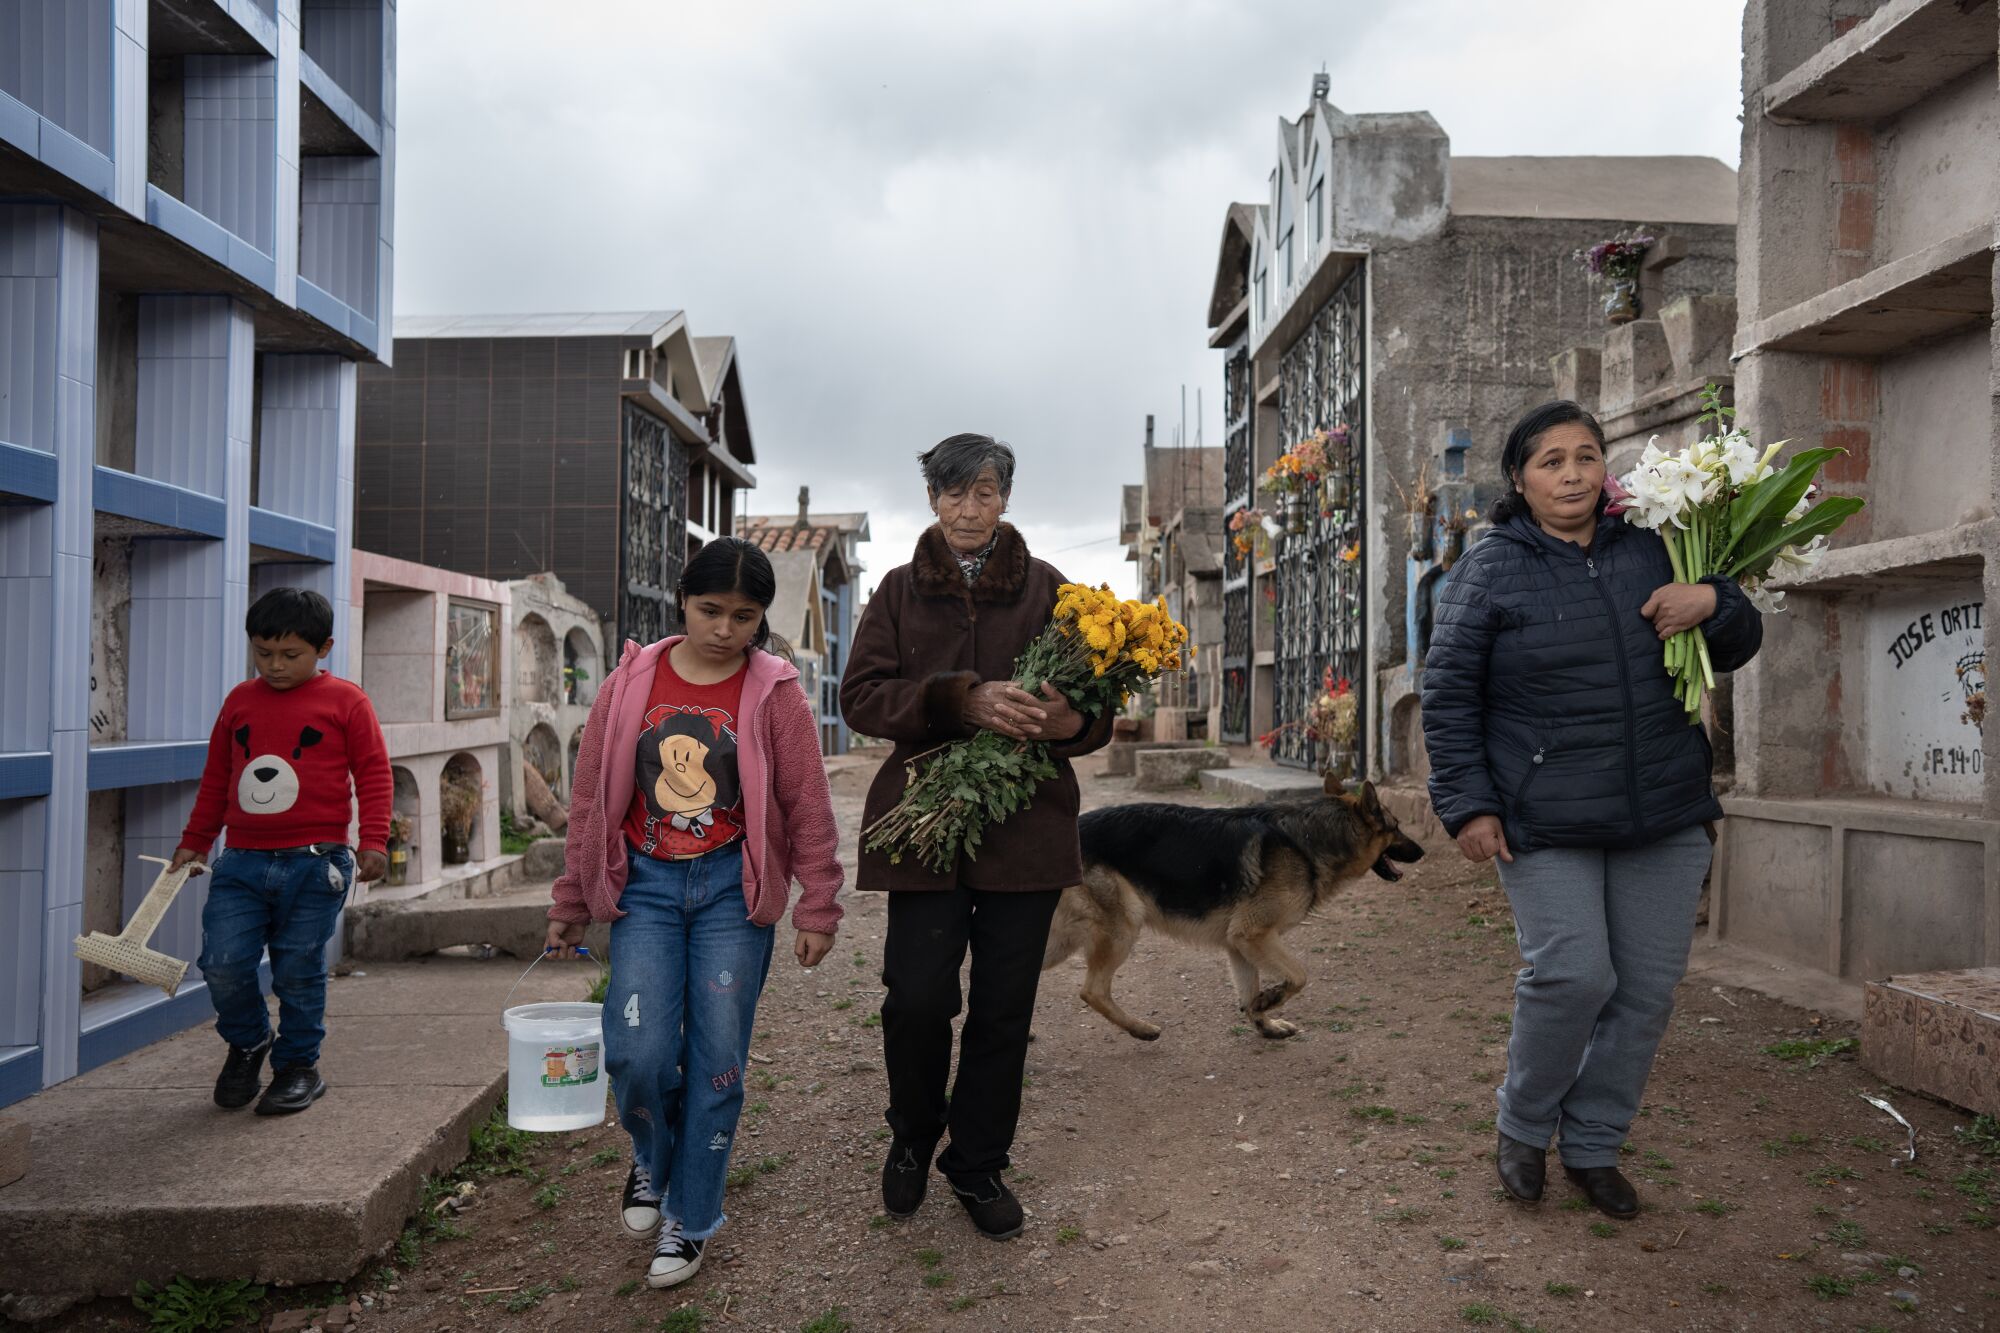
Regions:
[[[1334,290],[1306,332],[1278,364],[1278,416],[1286,448],[1314,430],[1348,426],[1346,444],[1328,444],[1328,472],[1318,496],[1304,498],[1304,532],[1278,538],[1274,717],[1304,721],[1322,675],[1346,677],[1360,705],[1354,743],[1332,747],[1288,729],[1272,757],[1284,765],[1368,771],[1368,550],[1362,544],[1368,422],[1362,420],[1366,376],[1364,268]],[[1348,552],[1352,558],[1342,558]]]

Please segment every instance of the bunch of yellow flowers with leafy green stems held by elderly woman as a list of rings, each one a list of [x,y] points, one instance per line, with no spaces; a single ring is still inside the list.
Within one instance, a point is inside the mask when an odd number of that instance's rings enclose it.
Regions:
[[[1188,628],[1166,610],[1166,598],[1126,600],[1108,586],[1066,582],[1056,610],[1034,642],[1014,658],[1014,685],[1040,695],[1048,683],[1088,719],[1114,713],[1134,689],[1162,671],[1180,671],[1182,648],[1194,656]],[[1002,823],[1056,777],[1048,745],[982,731],[932,751],[918,771],[908,765],[902,801],[862,831],[862,847],[890,861],[916,853],[934,871],[950,871],[958,855],[978,855],[980,831]],[[918,757],[926,759],[926,757]]]

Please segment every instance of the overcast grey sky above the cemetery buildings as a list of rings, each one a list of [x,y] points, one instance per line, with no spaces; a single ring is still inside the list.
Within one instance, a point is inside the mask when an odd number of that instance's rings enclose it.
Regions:
[[[930,520],[912,456],[1014,444],[1014,522],[1130,590],[1118,486],[1188,386],[1208,288],[1312,74],[1464,154],[1738,158],[1740,0],[398,6],[396,310],[680,308],[734,334],[752,512]]]

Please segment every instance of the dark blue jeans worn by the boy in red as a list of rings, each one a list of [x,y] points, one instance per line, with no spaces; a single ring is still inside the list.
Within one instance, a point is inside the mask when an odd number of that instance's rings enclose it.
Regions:
[[[278,997],[272,1069],[314,1065],[326,1039],[326,941],[354,887],[346,847],[232,847],[208,873],[202,907],[202,977],[216,1007],[216,1031],[232,1047],[270,1035],[258,963],[270,949],[270,991]]]

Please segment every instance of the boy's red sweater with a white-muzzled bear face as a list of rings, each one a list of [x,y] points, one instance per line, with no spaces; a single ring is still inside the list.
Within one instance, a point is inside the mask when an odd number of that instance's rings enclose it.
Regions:
[[[382,725],[358,685],[324,673],[288,691],[244,681],[216,715],[180,845],[206,857],[224,829],[230,847],[344,845],[358,799],[360,851],[384,851],[394,791]]]

